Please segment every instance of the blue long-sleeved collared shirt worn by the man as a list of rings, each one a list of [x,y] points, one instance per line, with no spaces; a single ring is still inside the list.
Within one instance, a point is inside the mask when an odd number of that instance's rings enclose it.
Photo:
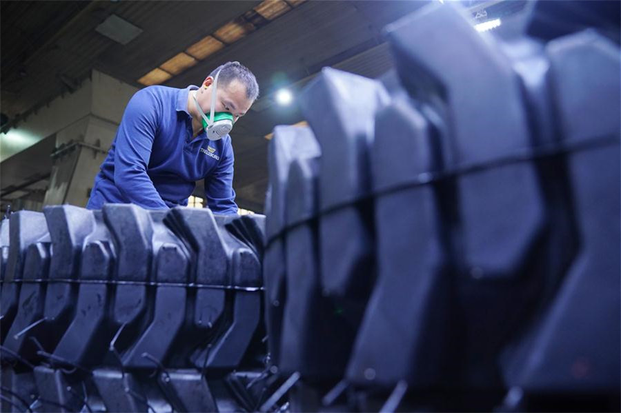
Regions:
[[[208,207],[235,214],[233,147],[230,136],[193,139],[186,89],[149,86],[130,99],[108,157],[95,177],[86,208],[135,203],[164,209],[188,205],[195,182],[205,179]]]

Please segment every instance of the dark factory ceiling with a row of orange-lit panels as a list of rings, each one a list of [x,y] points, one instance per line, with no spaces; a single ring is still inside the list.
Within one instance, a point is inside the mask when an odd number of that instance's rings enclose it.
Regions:
[[[295,94],[323,66],[380,76],[392,64],[382,28],[425,3],[1,1],[2,128],[72,92],[92,69],[138,88],[183,88],[199,84],[221,63],[240,61],[256,74],[262,90],[231,134],[234,186],[240,206],[261,211],[267,183],[264,137],[277,124],[302,121],[295,101],[289,107],[275,103],[275,90],[288,86]],[[462,3],[474,16],[510,12],[523,2]],[[19,185],[13,178],[3,176],[1,187]]]

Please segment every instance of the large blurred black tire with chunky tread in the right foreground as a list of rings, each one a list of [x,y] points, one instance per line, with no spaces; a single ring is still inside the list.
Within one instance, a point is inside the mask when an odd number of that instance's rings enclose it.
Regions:
[[[619,5],[586,3],[502,37],[426,6],[386,28],[395,72],[326,68],[309,127],[275,128],[266,324],[293,410],[620,408]]]

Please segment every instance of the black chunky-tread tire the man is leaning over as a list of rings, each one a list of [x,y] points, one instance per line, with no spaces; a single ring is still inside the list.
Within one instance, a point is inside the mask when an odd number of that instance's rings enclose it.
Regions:
[[[1,411],[256,410],[264,216],[68,205],[2,221]]]

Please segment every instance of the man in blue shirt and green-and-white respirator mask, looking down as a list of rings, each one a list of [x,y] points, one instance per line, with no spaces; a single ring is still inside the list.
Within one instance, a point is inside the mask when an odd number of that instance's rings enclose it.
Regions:
[[[211,72],[201,88],[139,90],[125,109],[86,208],[185,206],[195,181],[205,179],[208,207],[218,214],[237,213],[228,132],[258,94],[255,76],[239,62]]]

